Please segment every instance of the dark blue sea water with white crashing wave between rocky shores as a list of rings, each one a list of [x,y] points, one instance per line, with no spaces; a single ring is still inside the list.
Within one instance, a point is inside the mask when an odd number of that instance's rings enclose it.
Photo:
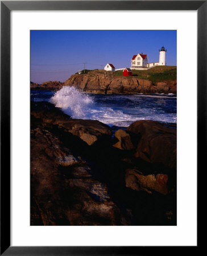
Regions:
[[[49,101],[72,118],[98,120],[109,126],[128,127],[137,120],[177,123],[174,94],[91,94],[64,86],[57,92],[31,90],[31,100]]]

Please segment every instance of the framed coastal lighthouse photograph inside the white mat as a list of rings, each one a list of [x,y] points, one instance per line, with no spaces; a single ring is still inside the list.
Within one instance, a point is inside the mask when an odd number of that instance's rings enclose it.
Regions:
[[[30,225],[177,225],[176,30],[30,30]]]

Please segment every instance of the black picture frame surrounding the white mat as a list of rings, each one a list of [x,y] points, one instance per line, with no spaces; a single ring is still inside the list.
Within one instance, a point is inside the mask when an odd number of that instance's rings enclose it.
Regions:
[[[207,1],[1,1],[1,255],[175,255],[177,251],[187,253],[187,249],[196,255],[201,247],[199,233],[197,246],[188,247],[10,246],[10,12],[12,10],[197,10],[197,173],[199,174],[206,157]]]

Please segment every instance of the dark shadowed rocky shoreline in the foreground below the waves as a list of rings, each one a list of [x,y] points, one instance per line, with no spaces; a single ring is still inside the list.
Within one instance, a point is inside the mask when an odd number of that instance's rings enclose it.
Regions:
[[[31,102],[31,225],[176,225],[176,129]]]

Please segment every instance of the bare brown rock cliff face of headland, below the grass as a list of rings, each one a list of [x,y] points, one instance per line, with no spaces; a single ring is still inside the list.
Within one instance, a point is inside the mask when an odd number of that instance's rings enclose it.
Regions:
[[[74,86],[81,92],[96,94],[136,94],[136,93],[177,93],[177,81],[161,81],[153,84],[150,80],[134,76],[115,76],[113,72],[90,71],[75,74],[65,82],[48,81],[43,84],[31,82],[31,90],[59,90],[63,86]]]

